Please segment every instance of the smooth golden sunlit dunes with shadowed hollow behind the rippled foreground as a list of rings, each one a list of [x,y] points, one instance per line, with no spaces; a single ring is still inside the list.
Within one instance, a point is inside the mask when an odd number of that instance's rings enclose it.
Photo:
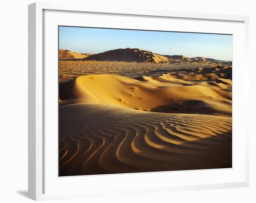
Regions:
[[[231,115],[228,79],[217,79],[215,74],[138,79],[104,74],[61,82],[60,104],[98,103],[143,111]]]

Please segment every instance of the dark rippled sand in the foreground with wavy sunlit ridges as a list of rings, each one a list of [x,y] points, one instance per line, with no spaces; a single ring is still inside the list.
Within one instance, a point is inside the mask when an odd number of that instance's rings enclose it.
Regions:
[[[232,120],[105,104],[60,107],[59,175],[232,167]]]

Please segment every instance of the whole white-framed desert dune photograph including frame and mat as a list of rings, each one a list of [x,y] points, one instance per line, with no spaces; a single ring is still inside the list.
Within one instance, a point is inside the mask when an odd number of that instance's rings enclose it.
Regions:
[[[29,198],[249,186],[249,17],[28,8]]]

